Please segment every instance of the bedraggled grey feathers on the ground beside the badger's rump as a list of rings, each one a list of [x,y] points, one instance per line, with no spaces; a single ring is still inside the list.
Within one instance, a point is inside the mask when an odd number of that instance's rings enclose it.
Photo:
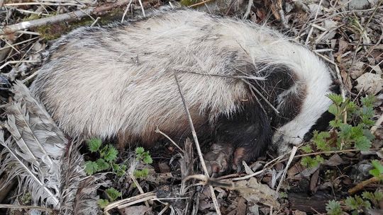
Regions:
[[[51,207],[59,214],[94,214],[101,185],[97,181],[102,176],[85,175],[79,141],[68,143],[23,83],[16,81],[12,92],[14,101],[3,107],[11,137],[4,140],[0,130],[0,144],[5,147],[0,152],[0,175],[8,173],[7,180],[17,177],[19,192],[27,189],[35,205]]]

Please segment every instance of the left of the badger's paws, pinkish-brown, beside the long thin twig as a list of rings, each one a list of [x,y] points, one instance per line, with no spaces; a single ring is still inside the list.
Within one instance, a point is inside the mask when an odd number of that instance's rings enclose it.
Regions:
[[[232,153],[233,146],[230,144],[212,144],[210,151],[204,155],[209,175],[216,177],[229,170]]]

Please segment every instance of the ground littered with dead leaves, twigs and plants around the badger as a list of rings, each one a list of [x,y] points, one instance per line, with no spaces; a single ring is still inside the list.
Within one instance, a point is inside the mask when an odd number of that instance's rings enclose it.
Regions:
[[[266,24],[308,47],[331,67],[340,86],[340,95],[331,98],[335,120],[289,153],[267,153],[248,163],[243,173],[219,178],[199,175],[196,146],[190,142],[182,151],[165,143],[150,154],[141,148],[119,153],[113,164],[127,174],[105,173],[110,183],[97,190],[106,213],[383,214],[382,0],[0,0],[1,105],[12,100],[12,83],[21,80],[28,86],[35,79],[43,52],[60,35],[169,4]],[[5,128],[6,115],[0,113],[0,128]],[[101,148],[87,148],[80,149],[85,161],[101,156]],[[188,175],[194,177],[185,181]],[[4,178],[0,175],[0,189]],[[28,194],[18,193],[17,187],[11,180],[0,193],[0,214],[11,213],[7,205],[15,199],[30,204]],[[120,202],[109,204],[115,201]],[[12,213],[32,212],[21,207]]]

